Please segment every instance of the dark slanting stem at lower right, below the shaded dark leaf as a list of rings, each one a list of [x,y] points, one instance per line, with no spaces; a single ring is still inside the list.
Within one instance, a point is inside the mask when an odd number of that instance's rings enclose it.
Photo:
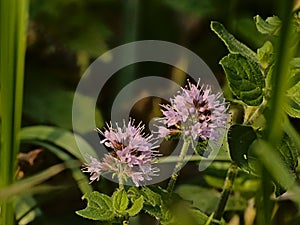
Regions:
[[[232,163],[230,165],[230,167],[228,168],[228,172],[227,172],[226,179],[224,182],[224,187],[223,187],[223,191],[221,194],[221,198],[220,198],[218,208],[217,208],[215,216],[214,216],[214,219],[216,219],[216,220],[221,220],[221,218],[224,214],[225,206],[228,201],[229,195],[232,191],[233,183],[234,183],[235,177],[237,175],[237,172],[238,172],[237,165]]]

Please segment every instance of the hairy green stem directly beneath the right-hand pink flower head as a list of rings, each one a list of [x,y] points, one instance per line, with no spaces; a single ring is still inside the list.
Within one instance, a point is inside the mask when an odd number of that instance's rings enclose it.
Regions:
[[[182,168],[184,158],[185,158],[185,156],[187,154],[187,151],[189,149],[189,145],[190,145],[190,141],[189,140],[184,140],[181,151],[180,151],[179,160],[178,160],[178,162],[177,162],[177,164],[174,168],[173,174],[172,174],[171,179],[168,183],[167,191],[170,195],[174,191],[175,183],[176,183],[177,177],[179,175],[179,171]]]

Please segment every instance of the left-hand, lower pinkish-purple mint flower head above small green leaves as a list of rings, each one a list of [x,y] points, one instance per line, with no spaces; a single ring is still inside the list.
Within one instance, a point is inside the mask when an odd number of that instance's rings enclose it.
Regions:
[[[133,122],[127,125],[123,122],[123,127],[116,123],[116,128],[107,124],[107,129],[98,130],[104,137],[101,143],[112,151],[105,154],[101,162],[90,156],[90,163],[83,172],[90,173],[92,182],[98,181],[101,175],[111,174],[122,185],[132,181],[135,186],[141,186],[146,180],[152,180],[152,176],[158,176],[159,169],[153,167],[153,161],[159,154],[153,150],[156,146],[152,135],[146,136],[144,126],[140,123],[135,127]]]

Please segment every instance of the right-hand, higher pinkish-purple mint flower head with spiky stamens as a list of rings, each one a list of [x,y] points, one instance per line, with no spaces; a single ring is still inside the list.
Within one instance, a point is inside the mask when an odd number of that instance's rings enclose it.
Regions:
[[[198,141],[216,141],[220,137],[218,128],[224,128],[227,121],[226,104],[221,93],[213,94],[209,85],[199,86],[188,81],[170,104],[161,105],[163,117],[157,125],[158,137],[183,135]]]

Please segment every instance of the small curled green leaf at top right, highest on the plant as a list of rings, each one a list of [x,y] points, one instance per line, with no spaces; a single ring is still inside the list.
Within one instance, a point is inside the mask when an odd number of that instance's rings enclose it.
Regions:
[[[281,21],[277,16],[268,17],[266,20],[259,15],[254,17],[257,30],[262,34],[278,35]]]

